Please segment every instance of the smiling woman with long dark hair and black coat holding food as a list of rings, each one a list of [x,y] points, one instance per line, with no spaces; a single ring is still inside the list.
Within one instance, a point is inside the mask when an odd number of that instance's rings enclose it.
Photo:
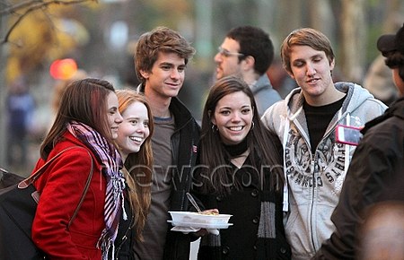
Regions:
[[[233,226],[201,238],[198,259],[290,259],[283,226],[284,174],[277,135],[261,126],[252,91],[224,77],[210,89],[202,118],[194,190]]]

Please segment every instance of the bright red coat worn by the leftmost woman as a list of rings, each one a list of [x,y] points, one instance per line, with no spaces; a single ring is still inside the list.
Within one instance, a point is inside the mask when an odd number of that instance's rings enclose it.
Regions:
[[[31,236],[50,259],[101,259],[101,250],[96,245],[105,227],[106,180],[101,174],[101,164],[92,152],[72,134],[66,132],[64,137],[65,140],[57,143],[48,159],[67,147],[81,146],[84,149],[77,147],[64,152],[35,182],[40,203]],[[92,154],[92,159],[86,151]],[[75,220],[66,230],[83,194],[92,160],[92,182]],[[38,160],[34,171],[43,164],[44,160]]]

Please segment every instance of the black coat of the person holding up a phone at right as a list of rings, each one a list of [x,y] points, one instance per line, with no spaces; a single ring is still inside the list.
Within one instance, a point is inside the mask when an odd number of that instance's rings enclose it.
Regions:
[[[404,176],[404,98],[366,123],[331,216],[336,231],[312,259],[355,259],[357,228],[364,210],[381,199],[386,186]],[[401,187],[402,189],[402,187]]]

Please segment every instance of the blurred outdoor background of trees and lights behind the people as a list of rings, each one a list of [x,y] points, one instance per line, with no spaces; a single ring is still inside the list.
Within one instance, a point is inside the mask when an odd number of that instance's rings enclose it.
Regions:
[[[0,167],[31,173],[59,85],[76,70],[117,89],[136,87],[136,40],[156,26],[178,30],[197,49],[180,99],[200,119],[215,78],[213,57],[233,27],[255,25],[269,33],[275,88],[287,77],[279,46],[300,27],[321,30],[332,41],[337,81],[364,84],[378,57],[376,39],[395,33],[403,13],[402,0],[0,0]],[[66,62],[57,67],[57,60]]]

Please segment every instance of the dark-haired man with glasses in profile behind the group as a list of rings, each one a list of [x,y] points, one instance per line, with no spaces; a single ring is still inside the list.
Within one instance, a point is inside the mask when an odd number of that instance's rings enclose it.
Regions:
[[[241,26],[230,30],[215,55],[216,78],[238,75],[250,86],[259,116],[281,100],[271,86],[267,71],[274,59],[274,46],[264,30]]]

